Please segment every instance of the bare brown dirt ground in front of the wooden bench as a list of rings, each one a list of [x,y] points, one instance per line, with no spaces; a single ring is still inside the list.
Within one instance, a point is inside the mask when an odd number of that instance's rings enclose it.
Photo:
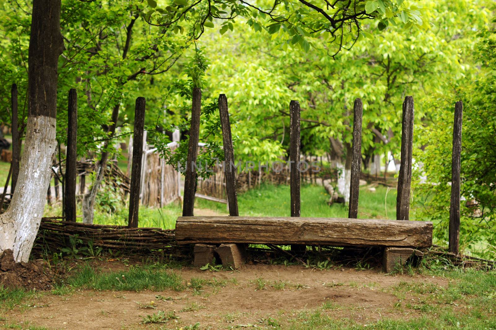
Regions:
[[[113,270],[121,267],[108,266]],[[224,287],[204,286],[199,291],[84,290],[64,296],[46,292],[30,302],[31,307],[16,308],[4,317],[7,322],[27,321],[48,329],[180,329],[196,322],[200,323],[200,329],[263,328],[272,317],[295,318],[302,311],[312,311],[326,303],[324,306],[332,309],[333,318],[367,324],[381,318],[419,316],[415,310],[395,309],[400,300],[391,288],[402,281],[447,285],[447,280],[432,276],[386,275],[374,269],[316,270],[297,265],[245,265],[236,272],[191,267],[175,271],[186,281],[191,278],[227,281]],[[285,283],[284,289],[275,283]],[[157,295],[173,300],[160,300]],[[154,305],[155,309],[143,308],[146,305]],[[173,311],[179,318],[166,324],[141,323],[142,317],[158,311]]]

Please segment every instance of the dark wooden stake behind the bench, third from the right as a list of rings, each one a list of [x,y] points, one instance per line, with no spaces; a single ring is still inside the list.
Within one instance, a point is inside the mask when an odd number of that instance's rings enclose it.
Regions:
[[[358,195],[360,191],[360,173],[362,172],[362,116],[363,106],[360,98],[353,106],[353,145],[350,179],[350,206],[348,218],[358,217]]]

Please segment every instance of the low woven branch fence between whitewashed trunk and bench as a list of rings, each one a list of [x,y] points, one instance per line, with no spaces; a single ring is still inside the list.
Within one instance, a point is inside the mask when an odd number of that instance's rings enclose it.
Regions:
[[[34,250],[57,252],[67,247],[70,238],[80,239],[83,246],[92,242],[95,248],[119,249],[122,252],[162,250],[177,257],[188,255],[188,247],[178,246],[175,231],[161,228],[127,228],[114,225],[90,225],[64,221],[63,218],[42,218]]]

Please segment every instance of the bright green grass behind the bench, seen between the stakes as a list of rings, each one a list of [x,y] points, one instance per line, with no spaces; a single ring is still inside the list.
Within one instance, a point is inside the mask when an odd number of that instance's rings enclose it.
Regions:
[[[396,219],[396,190],[378,186],[375,192],[361,187],[359,197],[359,217],[375,219]],[[320,185],[303,185],[301,188],[302,217],[347,218],[348,207],[334,203],[327,205],[329,195]],[[226,212],[224,204],[199,199],[201,208]],[[260,188],[248,190],[238,195],[241,216],[289,217],[289,185],[262,184]]]

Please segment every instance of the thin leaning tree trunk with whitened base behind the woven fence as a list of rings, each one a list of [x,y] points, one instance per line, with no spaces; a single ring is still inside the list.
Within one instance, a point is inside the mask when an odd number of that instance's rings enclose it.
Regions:
[[[114,133],[116,132],[116,123],[119,117],[119,106],[120,103],[114,106],[114,109],[112,110],[112,124],[110,125],[108,130],[108,138],[103,144],[102,157],[97,163],[95,169],[95,180],[88,189],[88,192],[83,197],[83,223],[85,224],[93,223],[96,193],[98,192],[98,189],[100,189],[100,185],[102,184],[103,178],[105,176],[105,169],[107,168],[107,161],[109,159],[109,141],[114,137]]]

